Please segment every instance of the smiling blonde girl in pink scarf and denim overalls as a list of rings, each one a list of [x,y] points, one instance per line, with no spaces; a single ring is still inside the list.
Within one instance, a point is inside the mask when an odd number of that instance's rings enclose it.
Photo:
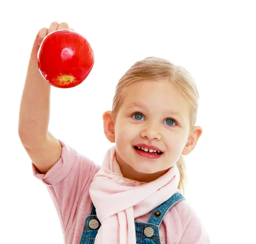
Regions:
[[[187,203],[183,155],[202,134],[194,126],[198,91],[189,73],[148,57],[119,80],[104,132],[115,146],[102,166],[49,131],[51,85],[37,67],[44,37],[67,23],[51,23],[35,39],[20,103],[19,136],[33,174],[47,185],[65,244],[209,244]],[[71,29],[73,30],[73,29]]]

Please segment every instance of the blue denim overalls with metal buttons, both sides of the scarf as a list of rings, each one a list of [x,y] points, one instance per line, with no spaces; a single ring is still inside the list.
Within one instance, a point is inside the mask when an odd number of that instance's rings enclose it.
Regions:
[[[134,221],[136,231],[137,244],[160,244],[159,226],[165,216],[175,204],[186,200],[180,193],[175,193],[164,203],[156,207],[148,218],[148,222]],[[90,215],[85,219],[84,229],[79,244],[94,244],[95,237],[98,233],[101,223],[96,215],[94,205],[92,206]],[[113,243],[114,244],[114,243]]]

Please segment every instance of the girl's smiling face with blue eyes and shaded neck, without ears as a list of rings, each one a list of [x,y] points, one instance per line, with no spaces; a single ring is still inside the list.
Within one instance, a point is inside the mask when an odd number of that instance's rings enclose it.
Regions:
[[[129,85],[114,123],[123,176],[149,182],[165,174],[188,143],[189,125],[186,100],[172,83],[145,80]]]

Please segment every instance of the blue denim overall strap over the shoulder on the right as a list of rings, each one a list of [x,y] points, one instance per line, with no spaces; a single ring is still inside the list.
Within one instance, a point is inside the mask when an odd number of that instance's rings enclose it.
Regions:
[[[171,198],[169,198],[167,201],[156,207],[151,212],[151,215],[148,218],[148,223],[157,224],[159,227],[163,220],[163,217],[166,215],[166,212],[168,212],[175,204],[182,200],[186,200],[182,194],[175,193],[174,195],[172,195]]]

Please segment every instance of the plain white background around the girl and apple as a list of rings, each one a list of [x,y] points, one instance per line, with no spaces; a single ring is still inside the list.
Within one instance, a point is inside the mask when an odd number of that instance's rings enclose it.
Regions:
[[[61,244],[47,187],[32,175],[18,136],[20,98],[32,43],[52,21],[67,22],[95,53],[87,79],[52,87],[49,130],[101,164],[112,145],[102,114],[115,86],[149,56],[184,66],[200,101],[203,135],[186,156],[186,199],[212,244],[256,243],[254,1],[2,1],[0,29],[0,243]]]

